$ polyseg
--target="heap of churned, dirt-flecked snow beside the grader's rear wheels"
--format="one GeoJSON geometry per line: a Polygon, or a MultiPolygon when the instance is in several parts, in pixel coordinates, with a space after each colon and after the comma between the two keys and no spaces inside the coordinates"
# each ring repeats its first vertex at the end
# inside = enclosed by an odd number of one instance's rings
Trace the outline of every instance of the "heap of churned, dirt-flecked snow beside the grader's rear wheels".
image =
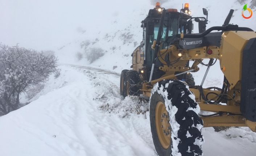
{"type": "Polygon", "coordinates": [[[83,71],[90,80],[93,81],[97,97],[94,100],[99,101],[97,106],[99,110],[105,113],[118,114],[124,118],[131,114],[145,114],[148,111],[149,104],[143,98],[137,96],[120,96],[119,88],[111,81],[102,80],[100,73],[83,71]]]}

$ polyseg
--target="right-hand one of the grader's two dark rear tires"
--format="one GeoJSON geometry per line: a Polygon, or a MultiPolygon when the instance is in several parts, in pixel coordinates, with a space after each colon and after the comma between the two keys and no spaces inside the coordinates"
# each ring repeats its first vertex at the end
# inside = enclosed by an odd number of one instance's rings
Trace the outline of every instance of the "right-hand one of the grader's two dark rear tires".
{"type": "Polygon", "coordinates": [[[127,97],[128,95],[140,96],[140,75],[137,71],[127,71],[124,84],[124,97],[127,97]]]}

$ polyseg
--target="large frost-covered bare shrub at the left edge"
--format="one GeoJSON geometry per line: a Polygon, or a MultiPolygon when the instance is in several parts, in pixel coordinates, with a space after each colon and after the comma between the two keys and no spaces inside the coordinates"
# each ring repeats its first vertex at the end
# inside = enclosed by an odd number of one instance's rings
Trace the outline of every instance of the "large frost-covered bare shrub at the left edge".
{"type": "Polygon", "coordinates": [[[20,93],[44,83],[58,71],[55,55],[0,45],[0,113],[20,108],[20,93]]]}

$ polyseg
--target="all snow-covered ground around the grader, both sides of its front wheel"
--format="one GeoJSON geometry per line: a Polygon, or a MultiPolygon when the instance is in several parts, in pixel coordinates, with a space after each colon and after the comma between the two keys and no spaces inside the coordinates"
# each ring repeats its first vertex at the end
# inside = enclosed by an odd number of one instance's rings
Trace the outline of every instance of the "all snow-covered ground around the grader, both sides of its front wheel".
{"type": "MultiPolygon", "coordinates": [[[[120,97],[117,73],[60,68],[61,75],[52,76],[35,101],[0,117],[1,155],[156,156],[148,104],[120,97]]],[[[249,128],[202,132],[205,156],[256,155],[256,133],[249,128]]]]}

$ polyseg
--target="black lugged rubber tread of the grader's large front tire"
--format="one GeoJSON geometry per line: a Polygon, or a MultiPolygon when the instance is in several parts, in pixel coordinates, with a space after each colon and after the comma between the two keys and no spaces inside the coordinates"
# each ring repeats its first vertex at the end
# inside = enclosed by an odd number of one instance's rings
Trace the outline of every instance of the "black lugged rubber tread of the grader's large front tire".
{"type": "MultiPolygon", "coordinates": [[[[196,142],[196,140],[202,143],[204,142],[203,135],[201,134],[201,129],[198,129],[200,125],[201,127],[203,126],[203,121],[194,110],[189,109],[195,109],[198,106],[198,104],[190,97],[190,95],[193,93],[190,92],[186,85],[179,80],[160,81],[158,84],[158,90],[160,89],[162,89],[163,92],[167,90],[168,100],[171,101],[173,106],[176,106],[178,108],[175,114],[176,122],[180,125],[177,133],[177,136],[180,139],[180,142],[178,144],[178,152],[181,153],[182,156],[201,156],[203,153],[202,147],[194,143],[196,142]],[[165,88],[165,86],[167,86],[167,83],[168,87],[165,88]],[[188,133],[190,134],[190,136],[187,136],[188,133]]],[[[156,93],[159,94],[161,92],[158,93],[155,90],[151,93],[151,97],[153,97],[153,95],[156,93]]],[[[161,94],[160,96],[164,97],[164,95],[161,94]]],[[[155,142],[156,141],[154,141],[154,144],[155,142]]],[[[166,154],[166,152],[159,152],[159,149],[157,153],[159,156],[168,155],[166,154]]],[[[169,155],[171,155],[171,153],[169,153],[169,155]]]]}

